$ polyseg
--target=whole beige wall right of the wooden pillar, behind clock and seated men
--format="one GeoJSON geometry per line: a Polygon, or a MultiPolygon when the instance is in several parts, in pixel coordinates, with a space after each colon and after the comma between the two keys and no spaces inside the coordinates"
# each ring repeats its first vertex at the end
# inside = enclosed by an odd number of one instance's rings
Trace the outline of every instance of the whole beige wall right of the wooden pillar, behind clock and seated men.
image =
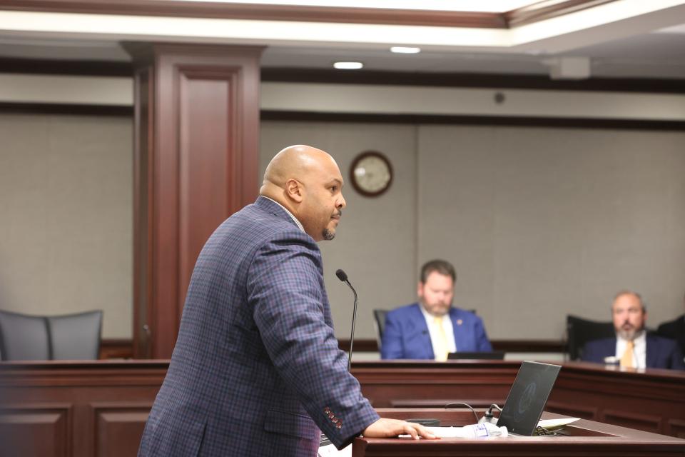
{"type": "Polygon", "coordinates": [[[262,124],[265,166],[288,144],[334,154],[347,176],[377,149],[397,169],[387,194],[345,189],[338,236],[322,243],[338,336],[350,328],[344,268],[371,309],[415,299],[430,258],[455,263],[455,302],[492,338],[562,338],[567,313],[609,319],[621,288],[640,291],[656,325],[682,313],[685,134],[499,126],[262,124]]]}

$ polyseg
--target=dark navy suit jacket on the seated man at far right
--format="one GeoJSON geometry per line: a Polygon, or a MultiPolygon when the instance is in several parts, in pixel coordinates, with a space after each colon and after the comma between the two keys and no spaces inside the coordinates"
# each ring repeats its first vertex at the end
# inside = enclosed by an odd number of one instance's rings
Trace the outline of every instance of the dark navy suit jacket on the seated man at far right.
{"type": "MultiPolygon", "coordinates": [[[[683,354],[675,341],[648,334],[646,349],[647,368],[685,370],[683,354]]],[[[581,360],[604,363],[604,357],[614,355],[616,355],[616,338],[602,338],[585,343],[581,360]]]]}

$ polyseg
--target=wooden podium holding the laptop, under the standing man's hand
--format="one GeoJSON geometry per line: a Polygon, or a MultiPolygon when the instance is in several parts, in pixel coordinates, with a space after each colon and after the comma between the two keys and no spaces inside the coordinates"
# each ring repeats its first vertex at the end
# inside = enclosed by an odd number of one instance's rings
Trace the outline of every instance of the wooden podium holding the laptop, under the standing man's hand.
{"type": "MultiPolygon", "coordinates": [[[[479,416],[484,410],[477,410],[479,416]]],[[[437,418],[441,426],[473,423],[467,409],[377,409],[381,417],[395,419],[437,418]]],[[[566,417],[543,413],[542,418],[566,417]]],[[[507,438],[357,438],[352,457],[666,457],[685,456],[685,440],[631,428],[580,419],[564,426],[559,436],[509,436],[507,438]]]]}

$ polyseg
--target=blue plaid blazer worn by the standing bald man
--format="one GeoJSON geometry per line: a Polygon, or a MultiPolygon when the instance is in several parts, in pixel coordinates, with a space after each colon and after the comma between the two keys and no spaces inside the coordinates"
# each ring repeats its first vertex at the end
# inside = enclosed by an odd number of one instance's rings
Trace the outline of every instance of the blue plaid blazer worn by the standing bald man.
{"type": "Polygon", "coordinates": [[[202,249],[138,456],[316,456],[377,414],[347,372],[321,254],[273,201],[230,216],[202,249]]]}

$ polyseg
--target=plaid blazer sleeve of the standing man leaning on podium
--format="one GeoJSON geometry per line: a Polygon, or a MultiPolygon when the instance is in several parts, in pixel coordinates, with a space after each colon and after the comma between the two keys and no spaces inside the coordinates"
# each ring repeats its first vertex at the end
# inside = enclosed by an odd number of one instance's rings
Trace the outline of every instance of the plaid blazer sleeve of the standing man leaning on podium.
{"type": "Polygon", "coordinates": [[[303,233],[265,243],[248,274],[252,306],[266,351],[288,387],[330,441],[342,448],[379,416],[347,372],[323,290],[320,251],[303,233]]]}

